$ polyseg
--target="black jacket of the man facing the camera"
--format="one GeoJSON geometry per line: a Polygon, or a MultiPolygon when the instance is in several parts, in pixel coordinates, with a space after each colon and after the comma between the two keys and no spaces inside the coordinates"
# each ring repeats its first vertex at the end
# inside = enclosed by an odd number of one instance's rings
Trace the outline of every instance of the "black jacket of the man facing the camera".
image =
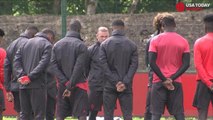
{"type": "Polygon", "coordinates": [[[90,89],[103,91],[104,85],[104,72],[100,63],[100,43],[96,42],[88,48],[90,58],[90,71],[88,82],[90,89]]]}

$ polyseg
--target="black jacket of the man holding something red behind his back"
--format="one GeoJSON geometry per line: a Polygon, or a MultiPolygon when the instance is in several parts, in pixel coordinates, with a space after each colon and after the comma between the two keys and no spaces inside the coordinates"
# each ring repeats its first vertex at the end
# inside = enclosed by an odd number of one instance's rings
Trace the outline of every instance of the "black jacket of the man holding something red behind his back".
{"type": "Polygon", "coordinates": [[[14,59],[17,78],[27,75],[31,83],[24,88],[41,88],[45,85],[45,70],[50,62],[52,44],[43,33],[37,33],[19,48],[14,59]]]}

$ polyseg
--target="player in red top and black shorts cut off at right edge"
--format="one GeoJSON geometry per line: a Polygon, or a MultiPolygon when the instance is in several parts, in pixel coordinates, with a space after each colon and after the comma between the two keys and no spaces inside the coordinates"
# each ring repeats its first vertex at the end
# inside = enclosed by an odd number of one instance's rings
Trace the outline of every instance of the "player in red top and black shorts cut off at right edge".
{"type": "Polygon", "coordinates": [[[197,70],[197,90],[193,106],[198,110],[198,119],[206,120],[209,103],[213,104],[213,14],[203,19],[206,35],[194,44],[194,64],[197,70]]]}

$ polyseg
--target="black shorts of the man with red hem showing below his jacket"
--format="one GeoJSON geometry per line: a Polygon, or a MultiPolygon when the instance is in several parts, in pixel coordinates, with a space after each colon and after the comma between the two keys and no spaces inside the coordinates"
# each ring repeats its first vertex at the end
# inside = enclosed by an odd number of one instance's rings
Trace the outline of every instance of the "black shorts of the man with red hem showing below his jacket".
{"type": "Polygon", "coordinates": [[[68,116],[79,117],[88,115],[88,95],[85,90],[74,88],[70,97],[63,98],[64,85],[59,85],[56,114],[64,119],[68,116]]]}

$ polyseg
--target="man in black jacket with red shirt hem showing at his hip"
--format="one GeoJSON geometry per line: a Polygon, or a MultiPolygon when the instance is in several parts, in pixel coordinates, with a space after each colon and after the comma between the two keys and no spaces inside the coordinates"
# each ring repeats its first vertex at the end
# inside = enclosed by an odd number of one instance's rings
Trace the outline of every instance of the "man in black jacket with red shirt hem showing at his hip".
{"type": "Polygon", "coordinates": [[[53,47],[51,69],[59,81],[57,97],[57,120],[67,116],[86,120],[88,96],[86,86],[86,63],[88,51],[80,36],[81,23],[71,21],[66,36],[53,47]]]}

